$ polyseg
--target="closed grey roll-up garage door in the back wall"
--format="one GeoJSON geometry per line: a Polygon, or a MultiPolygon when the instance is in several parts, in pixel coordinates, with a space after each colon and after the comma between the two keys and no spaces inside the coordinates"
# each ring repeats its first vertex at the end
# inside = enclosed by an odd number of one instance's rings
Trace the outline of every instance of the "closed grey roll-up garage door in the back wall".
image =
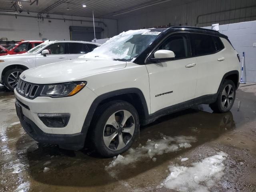
{"type": "MultiPolygon", "coordinates": [[[[92,41],[94,39],[94,30],[93,27],[82,27],[82,26],[70,26],[70,40],[76,41],[92,41]]],[[[101,38],[102,28],[95,28],[96,39],[101,38]]]]}

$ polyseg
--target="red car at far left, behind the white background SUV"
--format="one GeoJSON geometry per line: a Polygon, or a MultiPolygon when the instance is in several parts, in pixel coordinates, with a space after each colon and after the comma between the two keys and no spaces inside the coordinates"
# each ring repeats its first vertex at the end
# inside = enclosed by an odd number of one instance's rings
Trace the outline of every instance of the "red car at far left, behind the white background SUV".
{"type": "MultiPolygon", "coordinates": [[[[28,50],[40,45],[43,41],[22,41],[15,43],[4,50],[0,50],[0,56],[26,53],[28,50]]],[[[1,46],[2,47],[2,46],[1,46]]],[[[2,47],[4,48],[4,47],[2,47]]]]}

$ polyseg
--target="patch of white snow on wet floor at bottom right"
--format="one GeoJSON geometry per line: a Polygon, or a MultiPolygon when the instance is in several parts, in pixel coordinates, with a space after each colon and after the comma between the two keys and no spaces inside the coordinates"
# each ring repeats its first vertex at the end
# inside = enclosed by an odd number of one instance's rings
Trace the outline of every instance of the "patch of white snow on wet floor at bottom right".
{"type": "Polygon", "coordinates": [[[226,153],[220,152],[202,162],[193,163],[192,167],[170,166],[171,173],[161,186],[181,192],[208,192],[208,188],[224,175],[223,161],[226,156],[226,153]]]}

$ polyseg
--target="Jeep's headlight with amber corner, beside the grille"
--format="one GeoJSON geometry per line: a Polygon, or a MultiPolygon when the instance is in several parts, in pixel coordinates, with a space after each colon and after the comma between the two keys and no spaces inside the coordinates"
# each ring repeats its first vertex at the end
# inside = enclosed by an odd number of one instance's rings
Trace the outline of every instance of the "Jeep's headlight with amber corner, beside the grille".
{"type": "Polygon", "coordinates": [[[40,96],[68,97],[77,94],[86,86],[87,82],[72,82],[45,85],[40,96]]]}

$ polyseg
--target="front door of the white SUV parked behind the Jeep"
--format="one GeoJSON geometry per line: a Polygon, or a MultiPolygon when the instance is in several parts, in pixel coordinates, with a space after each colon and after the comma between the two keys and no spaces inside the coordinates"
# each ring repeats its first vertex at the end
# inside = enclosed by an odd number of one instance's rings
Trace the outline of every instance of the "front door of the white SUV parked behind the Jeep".
{"type": "Polygon", "coordinates": [[[36,55],[36,66],[45,65],[67,60],[68,43],[54,43],[50,44],[45,49],[49,50],[49,54],[44,56],[40,53],[36,55]]]}

